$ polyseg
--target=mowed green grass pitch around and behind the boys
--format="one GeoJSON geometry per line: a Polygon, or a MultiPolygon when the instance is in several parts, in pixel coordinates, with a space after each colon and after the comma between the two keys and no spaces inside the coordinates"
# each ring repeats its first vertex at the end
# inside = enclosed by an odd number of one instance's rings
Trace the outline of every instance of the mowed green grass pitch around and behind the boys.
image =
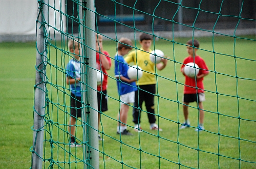
{"type": "MultiPolygon", "coordinates": [[[[189,105],[191,127],[179,130],[179,123],[184,120],[184,76],[180,67],[187,57],[184,45],[187,40],[155,42],[155,48],[169,57],[167,67],[156,71],[155,110],[157,123],[163,129],[161,132],[149,129],[145,112],[141,115],[143,132],[134,132],[131,107],[127,125],[134,135],[120,137],[116,134],[120,105],[112,59],[112,68],[108,71],[109,110],[102,114],[99,129],[104,133],[104,141],[99,142],[100,168],[256,168],[256,42],[199,38],[198,54],[205,60],[210,73],[204,79],[205,131],[198,133],[194,131],[198,125],[196,103],[189,105]]],[[[104,41],[103,46],[113,58],[115,42],[104,41]]],[[[70,149],[67,145],[69,96],[63,91],[69,91],[62,71],[70,58],[59,50],[66,46],[57,43],[57,47],[49,48],[47,65],[50,102],[45,118],[48,123],[43,168],[51,164],[54,168],[57,165],[83,168],[82,149],[70,149]],[[50,138],[53,146],[50,146],[50,138]]],[[[33,142],[35,43],[0,43],[0,51],[0,163],[3,168],[29,168],[33,142]]],[[[77,137],[82,141],[82,127],[77,127],[77,137]]]]}

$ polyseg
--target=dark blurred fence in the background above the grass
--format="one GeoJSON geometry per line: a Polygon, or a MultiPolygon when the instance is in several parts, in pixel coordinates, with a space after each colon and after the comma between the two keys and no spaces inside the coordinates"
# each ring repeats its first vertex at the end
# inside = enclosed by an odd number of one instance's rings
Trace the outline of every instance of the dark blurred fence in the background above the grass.
{"type": "MultiPolygon", "coordinates": [[[[146,32],[152,32],[153,27],[154,31],[186,31],[193,25],[196,29],[203,30],[255,27],[256,2],[254,0],[183,0],[179,9],[182,12],[178,13],[179,2],[119,0],[114,3],[111,0],[95,0],[96,29],[101,33],[113,33],[115,30],[117,32],[133,32],[133,27],[146,32]],[[120,5],[119,2],[123,5],[120,5]],[[179,20],[179,15],[182,20],[179,20]],[[113,20],[118,22],[115,23],[113,20]]],[[[67,19],[68,32],[77,33],[77,8],[71,0],[67,1],[67,13],[73,16],[72,19],[67,19]]]]}

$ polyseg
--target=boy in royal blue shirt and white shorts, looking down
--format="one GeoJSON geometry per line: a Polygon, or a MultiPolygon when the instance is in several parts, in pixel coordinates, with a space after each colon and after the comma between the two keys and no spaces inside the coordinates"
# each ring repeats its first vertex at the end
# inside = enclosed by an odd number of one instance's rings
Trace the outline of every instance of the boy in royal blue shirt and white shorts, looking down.
{"type": "Polygon", "coordinates": [[[133,135],[127,130],[127,114],[129,104],[134,103],[136,87],[136,79],[130,79],[127,75],[129,66],[124,61],[123,56],[132,50],[133,42],[127,38],[121,38],[117,45],[117,55],[115,56],[115,77],[117,78],[117,89],[121,100],[121,107],[117,115],[117,120],[121,123],[117,124],[117,134],[133,135]],[[119,79],[121,81],[119,81],[119,79]]]}

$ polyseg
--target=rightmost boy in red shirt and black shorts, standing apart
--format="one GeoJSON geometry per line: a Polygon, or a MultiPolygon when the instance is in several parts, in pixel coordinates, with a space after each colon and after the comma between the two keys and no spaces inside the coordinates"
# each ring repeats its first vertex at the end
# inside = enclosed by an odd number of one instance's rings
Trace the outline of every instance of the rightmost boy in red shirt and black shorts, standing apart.
{"type": "Polygon", "coordinates": [[[204,76],[208,75],[208,67],[205,64],[204,60],[196,54],[199,48],[199,41],[196,39],[190,39],[186,43],[187,52],[189,56],[184,59],[183,65],[181,66],[181,72],[185,76],[185,86],[184,86],[184,96],[183,96],[183,114],[185,118],[185,122],[182,124],[180,129],[184,129],[190,127],[190,123],[188,120],[188,104],[190,102],[196,101],[198,103],[199,110],[199,125],[196,128],[196,131],[201,131],[204,129],[203,121],[204,121],[204,107],[203,101],[205,101],[204,95],[204,85],[203,79],[204,76]],[[198,65],[199,73],[195,77],[188,77],[184,73],[184,67],[187,63],[192,62],[198,65]]]}

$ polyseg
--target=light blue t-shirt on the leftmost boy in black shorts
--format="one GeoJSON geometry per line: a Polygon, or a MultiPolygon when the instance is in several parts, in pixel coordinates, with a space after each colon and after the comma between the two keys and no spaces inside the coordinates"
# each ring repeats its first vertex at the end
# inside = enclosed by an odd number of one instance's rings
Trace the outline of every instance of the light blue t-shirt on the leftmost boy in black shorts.
{"type": "MultiPolygon", "coordinates": [[[[66,71],[67,71],[67,77],[70,76],[72,78],[78,78],[81,76],[80,73],[80,62],[71,59],[67,65],[66,71]]],[[[81,83],[76,81],[76,83],[70,85],[70,91],[74,95],[81,97],[81,83]]]]}

